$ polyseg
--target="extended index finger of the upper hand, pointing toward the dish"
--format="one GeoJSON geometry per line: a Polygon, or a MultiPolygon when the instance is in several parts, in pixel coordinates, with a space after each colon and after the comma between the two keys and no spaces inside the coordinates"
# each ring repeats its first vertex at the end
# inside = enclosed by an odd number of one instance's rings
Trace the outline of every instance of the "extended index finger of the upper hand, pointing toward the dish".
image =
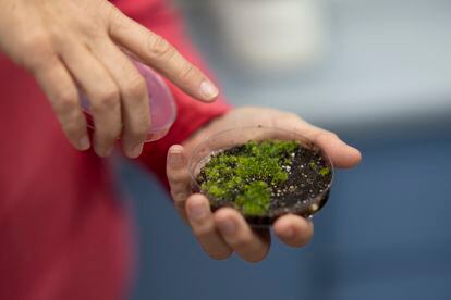
{"type": "Polygon", "coordinates": [[[196,99],[212,101],[219,93],[218,88],[190,63],[164,38],[149,32],[122,13],[110,17],[111,38],[143,63],[157,70],[179,88],[196,99]]]}

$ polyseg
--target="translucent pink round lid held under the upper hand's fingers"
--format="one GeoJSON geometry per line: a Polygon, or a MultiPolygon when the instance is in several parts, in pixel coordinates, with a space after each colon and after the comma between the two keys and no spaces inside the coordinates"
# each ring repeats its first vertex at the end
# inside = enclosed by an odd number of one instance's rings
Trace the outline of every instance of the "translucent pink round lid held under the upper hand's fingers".
{"type": "MultiPolygon", "coordinates": [[[[175,121],[176,108],[174,98],[160,75],[141,62],[132,61],[147,83],[151,124],[146,142],[155,141],[166,136],[175,121]]],[[[88,127],[95,129],[94,120],[89,112],[89,101],[83,93],[81,104],[85,112],[88,127]]]]}

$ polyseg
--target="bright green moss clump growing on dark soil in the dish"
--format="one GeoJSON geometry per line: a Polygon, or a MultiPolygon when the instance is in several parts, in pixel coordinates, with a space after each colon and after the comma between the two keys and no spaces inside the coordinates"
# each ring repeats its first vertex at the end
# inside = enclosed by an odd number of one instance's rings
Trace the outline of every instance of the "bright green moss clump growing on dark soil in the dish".
{"type": "Polygon", "coordinates": [[[271,187],[289,177],[295,141],[249,141],[214,155],[200,174],[202,190],[215,200],[233,201],[246,215],[265,215],[271,187]]]}

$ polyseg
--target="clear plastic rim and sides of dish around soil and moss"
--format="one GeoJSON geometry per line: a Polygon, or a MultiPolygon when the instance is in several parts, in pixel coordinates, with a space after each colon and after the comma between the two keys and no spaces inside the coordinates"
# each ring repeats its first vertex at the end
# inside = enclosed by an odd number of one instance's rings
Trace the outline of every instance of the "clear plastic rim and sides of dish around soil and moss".
{"type": "Polygon", "coordinates": [[[325,188],[322,192],[316,193],[314,197],[307,200],[298,201],[293,205],[270,210],[270,212],[267,215],[245,215],[241,212],[249,225],[252,225],[253,227],[266,227],[271,225],[279,216],[288,213],[297,214],[303,217],[310,217],[325,205],[329,198],[329,192],[333,180],[333,166],[325,151],[322,151],[322,149],[319,146],[315,145],[314,142],[303,137],[302,135],[298,135],[297,133],[275,127],[255,126],[229,129],[212,135],[211,137],[205,139],[192,152],[193,154],[190,158],[188,168],[192,179],[193,191],[204,193],[209,199],[212,211],[216,211],[221,207],[233,207],[233,204],[230,202],[217,201],[214,197],[204,191],[199,183],[197,182],[197,176],[214,154],[233,148],[235,146],[241,146],[251,140],[295,140],[303,148],[318,151],[320,153],[327,166],[330,168],[331,178],[328,183],[327,188],[325,188]]]}

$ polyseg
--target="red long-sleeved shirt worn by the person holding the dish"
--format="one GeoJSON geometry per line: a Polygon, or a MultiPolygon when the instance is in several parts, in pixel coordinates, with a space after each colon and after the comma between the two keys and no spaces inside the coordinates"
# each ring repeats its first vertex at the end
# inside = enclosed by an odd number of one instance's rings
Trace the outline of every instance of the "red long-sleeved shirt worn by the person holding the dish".
{"type": "MultiPolygon", "coordinates": [[[[114,3],[202,66],[166,1],[114,3]]],[[[178,120],[139,159],[163,180],[169,146],[228,110],[170,87],[178,120]]],[[[1,54],[0,137],[0,299],[123,299],[133,238],[108,160],[74,150],[33,77],[1,54]]]]}

